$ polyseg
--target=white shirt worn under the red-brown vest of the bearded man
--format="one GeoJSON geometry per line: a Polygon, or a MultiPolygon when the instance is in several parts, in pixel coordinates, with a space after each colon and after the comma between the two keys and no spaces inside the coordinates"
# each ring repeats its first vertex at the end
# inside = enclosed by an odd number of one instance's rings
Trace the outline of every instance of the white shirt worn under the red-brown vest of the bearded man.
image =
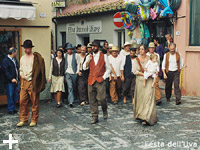
{"type": "MultiPolygon", "coordinates": [[[[97,65],[98,61],[99,61],[99,57],[100,57],[100,51],[98,51],[96,54],[93,53],[93,59],[94,59],[94,63],[95,63],[95,66],[97,65]]],[[[83,70],[87,70],[88,68],[86,67],[86,64],[88,62],[90,58],[90,55],[88,55],[86,57],[86,61],[84,62],[83,64],[83,70]]],[[[104,54],[104,61],[105,61],[105,67],[106,67],[106,72],[104,73],[103,75],[103,79],[105,80],[106,78],[109,77],[109,74],[111,72],[111,67],[110,67],[110,63],[109,63],[109,60],[108,60],[108,56],[106,54],[104,54]]]]}

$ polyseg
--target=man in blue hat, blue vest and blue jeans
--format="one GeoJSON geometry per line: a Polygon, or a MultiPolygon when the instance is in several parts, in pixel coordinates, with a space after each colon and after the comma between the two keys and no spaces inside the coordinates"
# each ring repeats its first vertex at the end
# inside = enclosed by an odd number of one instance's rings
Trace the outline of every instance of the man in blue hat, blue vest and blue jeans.
{"type": "Polygon", "coordinates": [[[69,106],[73,107],[74,93],[76,92],[77,74],[79,72],[79,56],[73,52],[73,46],[69,43],[66,47],[65,54],[65,79],[68,87],[68,102],[69,106]]]}

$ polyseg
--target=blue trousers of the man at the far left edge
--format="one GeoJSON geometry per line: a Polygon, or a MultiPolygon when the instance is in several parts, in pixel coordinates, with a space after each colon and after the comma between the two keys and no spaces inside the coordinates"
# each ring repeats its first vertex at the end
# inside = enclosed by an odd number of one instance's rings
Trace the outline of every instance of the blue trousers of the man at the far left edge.
{"type": "Polygon", "coordinates": [[[6,85],[6,96],[8,111],[14,111],[16,109],[16,102],[19,100],[18,84],[8,83],[6,85]]]}

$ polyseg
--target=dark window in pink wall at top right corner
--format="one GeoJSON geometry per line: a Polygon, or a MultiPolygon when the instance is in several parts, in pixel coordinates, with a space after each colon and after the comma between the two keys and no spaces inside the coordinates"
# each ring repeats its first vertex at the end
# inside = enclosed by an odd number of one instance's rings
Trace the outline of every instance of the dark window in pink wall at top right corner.
{"type": "Polygon", "coordinates": [[[200,46],[200,0],[190,0],[190,46],[200,46]]]}

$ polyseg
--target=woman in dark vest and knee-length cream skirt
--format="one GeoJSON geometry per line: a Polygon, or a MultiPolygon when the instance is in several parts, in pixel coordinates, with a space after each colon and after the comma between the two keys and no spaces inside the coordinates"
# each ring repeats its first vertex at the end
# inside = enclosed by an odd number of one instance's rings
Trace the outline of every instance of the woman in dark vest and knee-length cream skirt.
{"type": "Polygon", "coordinates": [[[48,82],[51,82],[50,92],[54,93],[57,102],[56,107],[61,107],[62,92],[65,92],[64,86],[65,58],[62,49],[56,51],[56,57],[51,61],[48,82]]]}

